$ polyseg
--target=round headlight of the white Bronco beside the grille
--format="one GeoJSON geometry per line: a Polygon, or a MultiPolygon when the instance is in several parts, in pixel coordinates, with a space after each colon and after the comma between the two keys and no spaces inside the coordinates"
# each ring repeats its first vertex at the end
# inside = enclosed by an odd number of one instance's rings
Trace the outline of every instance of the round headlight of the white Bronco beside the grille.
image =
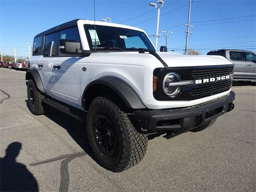
{"type": "Polygon", "coordinates": [[[181,86],[170,86],[169,84],[174,82],[179,82],[180,80],[181,79],[178,73],[176,72],[168,73],[164,77],[164,81],[163,81],[164,93],[169,97],[176,97],[180,92],[181,86]]]}

